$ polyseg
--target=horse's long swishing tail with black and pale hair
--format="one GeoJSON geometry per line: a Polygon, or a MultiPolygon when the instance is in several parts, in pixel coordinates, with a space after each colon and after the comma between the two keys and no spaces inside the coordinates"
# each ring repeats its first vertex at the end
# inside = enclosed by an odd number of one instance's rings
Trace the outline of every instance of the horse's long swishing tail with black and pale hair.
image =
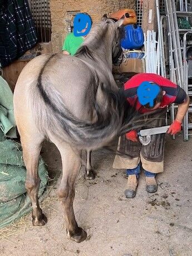
{"type": "MultiPolygon", "coordinates": [[[[50,58],[47,62],[49,60],[50,58]]],[[[81,149],[96,149],[119,134],[124,117],[124,97],[118,90],[107,91],[101,86],[108,102],[104,111],[96,100],[95,89],[92,99],[97,119],[93,124],[82,121],[71,114],[60,93],[46,81],[43,76],[45,66],[46,63],[38,76],[37,86],[33,87],[31,93],[33,117],[43,134],[47,137],[54,134],[61,141],[70,142],[81,149]]]]}

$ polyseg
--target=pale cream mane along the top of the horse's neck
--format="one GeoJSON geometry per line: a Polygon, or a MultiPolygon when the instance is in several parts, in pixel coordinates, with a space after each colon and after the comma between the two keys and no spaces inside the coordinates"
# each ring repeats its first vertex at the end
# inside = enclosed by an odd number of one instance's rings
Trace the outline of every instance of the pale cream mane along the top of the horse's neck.
{"type": "MultiPolygon", "coordinates": [[[[115,28],[115,21],[113,19],[106,19],[96,23],[90,33],[88,33],[82,46],[77,50],[75,56],[84,55],[93,58],[93,53],[97,48],[101,46],[101,42],[104,40],[105,33],[107,31],[106,24],[112,24],[115,28]]],[[[119,40],[125,37],[125,29],[123,26],[119,27],[119,40]]]]}

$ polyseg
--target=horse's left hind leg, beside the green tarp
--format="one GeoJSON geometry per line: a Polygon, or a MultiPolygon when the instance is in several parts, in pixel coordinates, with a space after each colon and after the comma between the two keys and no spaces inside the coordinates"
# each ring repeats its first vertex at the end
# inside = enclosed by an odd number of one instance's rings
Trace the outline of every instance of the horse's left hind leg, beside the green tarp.
{"type": "Polygon", "coordinates": [[[38,176],[38,161],[42,147],[43,137],[39,134],[21,135],[23,149],[23,160],[27,169],[26,189],[32,202],[32,223],[35,226],[42,226],[47,223],[46,216],[42,213],[38,203],[38,190],[40,188],[40,177],[38,176]]]}

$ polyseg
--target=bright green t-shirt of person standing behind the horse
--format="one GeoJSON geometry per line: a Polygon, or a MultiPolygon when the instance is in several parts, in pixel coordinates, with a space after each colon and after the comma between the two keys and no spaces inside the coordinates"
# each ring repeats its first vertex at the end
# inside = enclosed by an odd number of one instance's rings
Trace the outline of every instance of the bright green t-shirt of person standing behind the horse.
{"type": "Polygon", "coordinates": [[[80,48],[84,39],[82,36],[74,36],[73,33],[68,33],[63,42],[62,51],[67,51],[70,55],[75,55],[78,48],[80,48]]]}

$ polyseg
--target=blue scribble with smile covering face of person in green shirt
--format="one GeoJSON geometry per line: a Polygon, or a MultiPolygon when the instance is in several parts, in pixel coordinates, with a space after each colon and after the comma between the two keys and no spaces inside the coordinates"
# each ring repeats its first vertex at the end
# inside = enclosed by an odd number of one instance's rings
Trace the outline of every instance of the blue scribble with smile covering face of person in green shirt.
{"type": "Polygon", "coordinates": [[[91,29],[91,17],[85,13],[76,14],[73,21],[74,36],[87,36],[91,29]]]}

